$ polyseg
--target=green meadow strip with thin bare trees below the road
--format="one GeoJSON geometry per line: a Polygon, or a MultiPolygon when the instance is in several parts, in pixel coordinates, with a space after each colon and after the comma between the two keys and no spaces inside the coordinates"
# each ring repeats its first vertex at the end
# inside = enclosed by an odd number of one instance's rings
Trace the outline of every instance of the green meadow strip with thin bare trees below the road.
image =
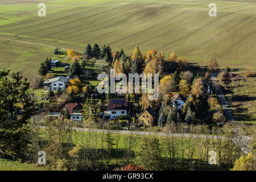
{"type": "MultiPolygon", "coordinates": [[[[229,169],[241,150],[234,146],[231,126],[212,131],[217,135],[212,138],[207,126],[177,125],[174,122],[164,127],[165,137],[157,135],[120,134],[118,122],[94,123],[86,122],[88,131],[73,130],[77,123],[67,120],[44,119],[46,129],[39,127],[42,123],[34,120],[31,124],[34,161],[37,152],[47,153],[47,166],[57,170],[105,170],[121,169],[123,166],[138,166],[138,170],[209,170],[229,169]],[[97,125],[97,126],[96,126],[97,125]],[[186,126],[186,127],[184,127],[186,126]],[[102,130],[93,130],[94,128],[102,130]],[[183,137],[170,134],[183,130],[183,137]],[[203,137],[192,137],[199,132],[203,137]],[[217,165],[209,165],[209,151],[217,153],[217,165]]],[[[81,126],[81,124],[79,124],[81,126]]],[[[129,167],[128,166],[128,167],[129,167]]],[[[127,168],[127,167],[125,167],[127,168]]],[[[135,167],[137,168],[137,167],[135,167]]]]}

